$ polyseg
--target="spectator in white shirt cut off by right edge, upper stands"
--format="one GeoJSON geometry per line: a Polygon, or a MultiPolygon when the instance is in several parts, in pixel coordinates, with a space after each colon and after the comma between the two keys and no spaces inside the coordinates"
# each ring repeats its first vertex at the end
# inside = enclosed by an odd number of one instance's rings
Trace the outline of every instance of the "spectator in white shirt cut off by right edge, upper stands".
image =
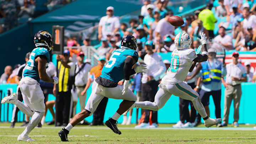
{"type": "Polygon", "coordinates": [[[256,16],[250,15],[249,7],[245,7],[242,11],[242,15],[244,16],[244,20],[242,21],[242,26],[244,28],[244,32],[247,31],[247,28],[251,27],[252,29],[256,27],[256,16]]]}

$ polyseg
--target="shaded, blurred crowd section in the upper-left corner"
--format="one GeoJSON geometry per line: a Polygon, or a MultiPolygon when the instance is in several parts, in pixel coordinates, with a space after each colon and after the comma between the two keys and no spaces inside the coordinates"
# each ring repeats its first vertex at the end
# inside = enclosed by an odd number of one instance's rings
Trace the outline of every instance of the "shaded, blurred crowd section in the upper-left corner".
{"type": "Polygon", "coordinates": [[[0,33],[74,0],[0,0],[0,33]]]}

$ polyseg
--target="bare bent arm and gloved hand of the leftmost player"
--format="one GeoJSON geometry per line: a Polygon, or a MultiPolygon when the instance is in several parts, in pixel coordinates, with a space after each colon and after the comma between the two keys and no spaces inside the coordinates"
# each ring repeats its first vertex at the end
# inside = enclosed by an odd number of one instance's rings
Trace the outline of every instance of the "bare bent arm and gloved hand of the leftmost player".
{"type": "MultiPolygon", "coordinates": [[[[51,82],[51,83],[58,83],[59,80],[57,80],[57,77],[50,78],[47,73],[46,73],[46,63],[47,60],[44,58],[44,56],[40,55],[39,57],[36,58],[36,63],[38,64],[38,73],[39,73],[39,78],[43,80],[44,82],[51,82]]],[[[57,84],[56,83],[56,84],[57,84]]]]}

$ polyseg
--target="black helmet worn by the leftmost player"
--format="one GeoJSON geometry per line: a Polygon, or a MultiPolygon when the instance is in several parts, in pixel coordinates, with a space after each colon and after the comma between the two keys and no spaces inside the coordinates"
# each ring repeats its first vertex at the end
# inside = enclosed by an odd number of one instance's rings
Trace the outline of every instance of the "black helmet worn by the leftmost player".
{"type": "Polygon", "coordinates": [[[34,44],[36,47],[45,47],[50,51],[53,49],[53,37],[47,31],[39,31],[34,35],[34,44]]]}

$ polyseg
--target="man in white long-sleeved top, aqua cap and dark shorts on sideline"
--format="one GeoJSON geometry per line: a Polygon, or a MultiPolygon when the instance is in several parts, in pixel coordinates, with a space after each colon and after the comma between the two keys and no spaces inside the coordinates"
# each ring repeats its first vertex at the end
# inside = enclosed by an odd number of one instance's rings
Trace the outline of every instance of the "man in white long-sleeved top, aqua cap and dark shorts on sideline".
{"type": "MultiPolygon", "coordinates": [[[[162,57],[153,52],[153,41],[146,41],[145,49],[146,55],[144,57],[144,63],[147,65],[146,73],[142,76],[142,101],[151,101],[155,99],[155,94],[158,90],[160,76],[166,71],[165,64],[162,61],[162,57]]],[[[151,110],[145,110],[144,122],[135,128],[155,128],[158,127],[157,111],[152,111],[151,114],[151,126],[149,125],[149,116],[151,110]]]]}

